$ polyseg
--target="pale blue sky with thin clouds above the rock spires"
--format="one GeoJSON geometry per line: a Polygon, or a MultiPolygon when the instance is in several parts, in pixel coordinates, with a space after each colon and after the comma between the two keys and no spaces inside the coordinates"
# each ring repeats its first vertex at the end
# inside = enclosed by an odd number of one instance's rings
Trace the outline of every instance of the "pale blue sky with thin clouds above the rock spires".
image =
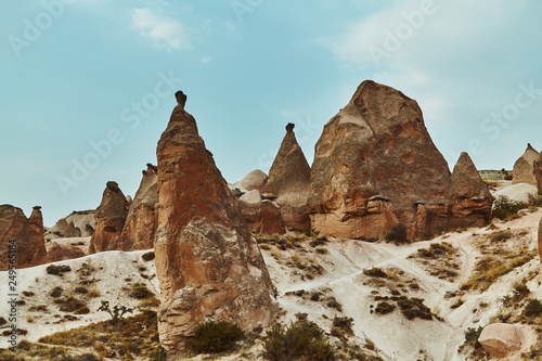
{"type": "Polygon", "coordinates": [[[0,204],[46,225],[133,195],[176,105],[224,178],[268,171],[296,124],[309,160],[364,79],[421,105],[453,168],[542,149],[540,1],[43,0],[0,3],[0,204]]]}

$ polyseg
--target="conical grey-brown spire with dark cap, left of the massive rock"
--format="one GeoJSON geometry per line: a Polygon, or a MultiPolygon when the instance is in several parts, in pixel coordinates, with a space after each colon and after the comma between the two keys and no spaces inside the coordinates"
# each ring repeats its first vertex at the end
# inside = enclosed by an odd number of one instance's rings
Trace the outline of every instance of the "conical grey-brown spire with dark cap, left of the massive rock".
{"type": "Polygon", "coordinates": [[[266,190],[278,195],[282,219],[287,229],[310,230],[307,199],[310,192],[310,166],[294,133],[294,125],[286,126],[279,153],[269,170],[266,190]]]}

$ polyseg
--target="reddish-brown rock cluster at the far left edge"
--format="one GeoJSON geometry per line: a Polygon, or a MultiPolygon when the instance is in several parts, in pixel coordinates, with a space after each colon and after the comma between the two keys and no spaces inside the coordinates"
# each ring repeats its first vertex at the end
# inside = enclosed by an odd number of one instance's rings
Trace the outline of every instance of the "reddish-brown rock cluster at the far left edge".
{"type": "Polygon", "coordinates": [[[16,245],[16,268],[43,265],[47,261],[41,207],[34,207],[27,219],[21,208],[0,205],[0,271],[9,268],[10,241],[16,245]]]}

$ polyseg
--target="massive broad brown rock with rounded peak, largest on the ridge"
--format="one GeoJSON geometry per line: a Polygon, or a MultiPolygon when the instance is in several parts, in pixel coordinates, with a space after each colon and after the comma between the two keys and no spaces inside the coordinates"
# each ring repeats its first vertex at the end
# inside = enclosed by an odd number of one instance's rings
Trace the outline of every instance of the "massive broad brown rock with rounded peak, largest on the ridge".
{"type": "Polygon", "coordinates": [[[450,182],[417,103],[390,87],[363,81],[315,145],[308,201],[312,228],[338,237],[380,237],[396,221],[392,212],[410,237],[422,235],[416,234],[421,230],[430,233],[448,218],[450,182]],[[374,195],[390,199],[379,208],[388,210],[370,212],[374,195]],[[418,224],[421,219],[426,223],[418,224]]]}

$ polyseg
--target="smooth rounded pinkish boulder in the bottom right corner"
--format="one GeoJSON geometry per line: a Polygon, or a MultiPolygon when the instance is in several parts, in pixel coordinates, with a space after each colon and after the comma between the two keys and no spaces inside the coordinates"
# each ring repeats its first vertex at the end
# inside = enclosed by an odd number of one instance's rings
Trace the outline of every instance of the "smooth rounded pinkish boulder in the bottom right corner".
{"type": "Polygon", "coordinates": [[[525,338],[520,327],[507,323],[492,323],[483,327],[478,343],[491,356],[505,358],[521,349],[525,338]]]}

